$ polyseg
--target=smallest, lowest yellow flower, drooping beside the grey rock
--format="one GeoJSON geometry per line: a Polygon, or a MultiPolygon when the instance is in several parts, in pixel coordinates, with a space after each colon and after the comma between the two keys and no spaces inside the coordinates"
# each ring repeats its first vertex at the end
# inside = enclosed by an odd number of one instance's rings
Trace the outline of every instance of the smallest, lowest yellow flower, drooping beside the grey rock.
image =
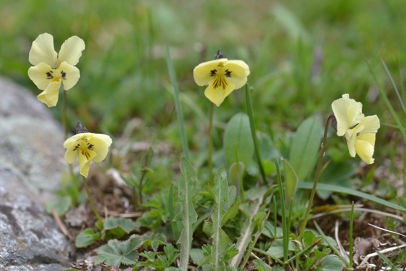
{"type": "Polygon", "coordinates": [[[78,133],[63,143],[67,149],[64,158],[72,164],[79,156],[80,174],[87,178],[90,162],[102,162],[111,143],[110,136],[101,133],[78,133]]]}

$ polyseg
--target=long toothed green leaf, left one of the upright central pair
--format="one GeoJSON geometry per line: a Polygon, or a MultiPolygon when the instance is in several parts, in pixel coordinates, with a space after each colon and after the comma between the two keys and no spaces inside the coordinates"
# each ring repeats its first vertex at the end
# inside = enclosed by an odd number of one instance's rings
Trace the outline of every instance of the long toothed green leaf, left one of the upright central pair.
{"type": "Polygon", "coordinates": [[[178,191],[179,199],[181,199],[180,211],[175,216],[173,221],[180,220],[183,223],[183,229],[177,243],[180,247],[180,264],[179,267],[184,271],[188,270],[189,253],[192,249],[192,225],[197,221],[197,213],[194,210],[192,199],[200,191],[199,187],[194,187],[197,183],[196,170],[190,162],[183,157],[180,161],[180,170],[182,178],[179,181],[178,191]]]}

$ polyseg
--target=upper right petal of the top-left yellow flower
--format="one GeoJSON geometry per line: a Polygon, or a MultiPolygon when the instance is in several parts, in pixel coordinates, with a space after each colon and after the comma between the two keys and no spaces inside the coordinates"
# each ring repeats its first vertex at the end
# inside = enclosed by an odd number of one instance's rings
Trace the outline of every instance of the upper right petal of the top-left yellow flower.
{"type": "Polygon", "coordinates": [[[60,46],[58,62],[66,61],[69,65],[75,66],[79,62],[84,50],[84,41],[78,36],[70,37],[60,46]]]}

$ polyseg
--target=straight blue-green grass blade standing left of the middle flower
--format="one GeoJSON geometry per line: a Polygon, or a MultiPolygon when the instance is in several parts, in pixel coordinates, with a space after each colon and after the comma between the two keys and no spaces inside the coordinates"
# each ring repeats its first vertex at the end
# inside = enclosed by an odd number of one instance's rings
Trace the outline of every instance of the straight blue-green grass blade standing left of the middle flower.
{"type": "Polygon", "coordinates": [[[189,146],[188,146],[188,138],[186,137],[185,125],[184,125],[184,118],[182,107],[179,99],[179,86],[176,80],[176,73],[175,68],[173,67],[173,62],[171,58],[171,54],[169,53],[169,46],[165,44],[166,50],[166,64],[168,65],[168,72],[169,76],[171,77],[171,82],[173,86],[173,98],[175,99],[175,107],[176,112],[179,120],[179,128],[180,128],[180,135],[182,138],[182,145],[183,145],[183,152],[187,160],[189,160],[189,146]]]}

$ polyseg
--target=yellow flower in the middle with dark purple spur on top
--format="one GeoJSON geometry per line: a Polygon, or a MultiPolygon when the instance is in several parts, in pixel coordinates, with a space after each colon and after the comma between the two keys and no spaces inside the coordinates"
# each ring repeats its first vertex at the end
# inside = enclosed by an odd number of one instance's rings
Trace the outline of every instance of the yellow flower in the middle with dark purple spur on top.
{"type": "Polygon", "coordinates": [[[244,86],[250,69],[242,60],[228,60],[218,51],[215,60],[200,63],[193,69],[194,81],[199,86],[208,85],[204,94],[215,105],[220,106],[233,90],[244,86]]]}

